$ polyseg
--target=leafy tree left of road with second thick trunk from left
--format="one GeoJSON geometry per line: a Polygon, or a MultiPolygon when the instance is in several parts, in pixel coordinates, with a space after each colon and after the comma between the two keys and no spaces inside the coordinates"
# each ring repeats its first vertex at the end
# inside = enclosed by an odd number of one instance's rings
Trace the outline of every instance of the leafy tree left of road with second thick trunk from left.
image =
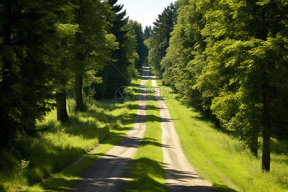
{"type": "Polygon", "coordinates": [[[99,82],[100,78],[92,75],[104,67],[103,57],[110,58],[111,49],[115,50],[117,44],[114,36],[108,34],[110,26],[106,18],[112,12],[107,2],[82,0],[72,3],[78,6],[74,17],[79,26],[75,39],[75,101],[76,110],[83,111],[83,81],[86,78],[86,82],[89,79],[99,82]]]}

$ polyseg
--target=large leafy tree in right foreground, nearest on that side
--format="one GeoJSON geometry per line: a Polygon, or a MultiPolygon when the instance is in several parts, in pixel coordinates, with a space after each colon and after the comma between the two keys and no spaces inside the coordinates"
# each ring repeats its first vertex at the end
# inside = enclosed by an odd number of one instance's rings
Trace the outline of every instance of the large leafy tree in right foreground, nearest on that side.
{"type": "MultiPolygon", "coordinates": [[[[216,70],[226,71],[227,76],[225,83],[218,86],[221,91],[219,97],[215,98],[215,104],[227,105],[222,99],[232,93],[233,98],[240,104],[232,122],[237,126],[241,125],[243,120],[246,122],[242,127],[250,133],[251,146],[255,153],[257,135],[261,131],[263,170],[270,170],[270,139],[277,130],[275,121],[278,118],[273,117],[272,111],[285,111],[279,101],[283,102],[280,95],[287,92],[286,54],[280,51],[285,50],[287,45],[287,27],[283,25],[287,18],[287,8],[282,1],[233,1],[219,4],[217,15],[222,15],[222,19],[219,20],[219,16],[209,13],[212,18],[210,21],[214,22],[207,31],[211,31],[213,26],[221,26],[220,35],[226,37],[220,41],[218,38],[219,42],[210,50],[210,53],[215,53],[211,56],[212,60],[221,58],[225,64],[215,65],[215,62],[212,62],[209,66],[217,66],[216,70]],[[233,87],[234,89],[231,89],[233,87]]],[[[211,34],[215,36],[217,32],[211,34]]],[[[210,72],[211,70],[208,70],[205,73],[210,72]]],[[[217,113],[221,110],[215,107],[214,111],[217,113]]],[[[287,111],[283,114],[280,117],[286,117],[287,111]]]]}

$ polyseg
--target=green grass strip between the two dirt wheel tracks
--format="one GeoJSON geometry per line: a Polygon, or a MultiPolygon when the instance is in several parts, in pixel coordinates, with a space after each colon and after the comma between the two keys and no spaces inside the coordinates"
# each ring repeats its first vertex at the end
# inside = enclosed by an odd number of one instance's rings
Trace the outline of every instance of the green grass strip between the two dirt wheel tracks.
{"type": "MultiPolygon", "coordinates": [[[[151,80],[147,84],[152,87],[151,80]]],[[[163,153],[161,149],[162,129],[157,102],[153,99],[153,89],[149,88],[150,99],[147,105],[147,130],[141,140],[137,152],[129,164],[129,181],[126,191],[167,191],[165,172],[163,170],[163,153]]]]}

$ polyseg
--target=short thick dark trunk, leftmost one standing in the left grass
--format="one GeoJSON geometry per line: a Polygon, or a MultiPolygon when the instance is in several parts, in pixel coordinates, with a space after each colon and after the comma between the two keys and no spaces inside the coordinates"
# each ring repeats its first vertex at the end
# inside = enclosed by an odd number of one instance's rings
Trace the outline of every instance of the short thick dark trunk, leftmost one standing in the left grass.
{"type": "Polygon", "coordinates": [[[57,121],[68,122],[69,117],[66,108],[66,92],[57,92],[55,95],[57,106],[57,121]]]}

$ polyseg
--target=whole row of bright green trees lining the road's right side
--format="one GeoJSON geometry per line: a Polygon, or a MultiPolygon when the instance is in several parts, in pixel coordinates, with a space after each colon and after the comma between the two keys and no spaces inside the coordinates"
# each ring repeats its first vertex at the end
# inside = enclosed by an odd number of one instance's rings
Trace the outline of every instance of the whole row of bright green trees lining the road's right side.
{"type": "Polygon", "coordinates": [[[255,155],[262,135],[262,169],[270,170],[271,137],[288,136],[287,4],[235,0],[176,5],[177,24],[160,66],[164,81],[175,87],[182,102],[239,130],[255,155]]]}

